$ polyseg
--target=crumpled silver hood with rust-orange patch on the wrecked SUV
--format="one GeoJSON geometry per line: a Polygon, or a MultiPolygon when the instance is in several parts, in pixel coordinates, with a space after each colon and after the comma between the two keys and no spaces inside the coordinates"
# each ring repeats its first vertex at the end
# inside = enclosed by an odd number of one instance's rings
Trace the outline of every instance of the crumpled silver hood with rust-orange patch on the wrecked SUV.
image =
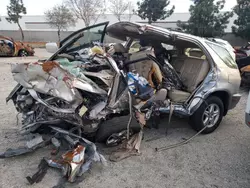
{"type": "Polygon", "coordinates": [[[80,93],[73,87],[74,76],[57,62],[12,64],[14,80],[27,89],[49,94],[68,102],[82,102],[80,93]]]}

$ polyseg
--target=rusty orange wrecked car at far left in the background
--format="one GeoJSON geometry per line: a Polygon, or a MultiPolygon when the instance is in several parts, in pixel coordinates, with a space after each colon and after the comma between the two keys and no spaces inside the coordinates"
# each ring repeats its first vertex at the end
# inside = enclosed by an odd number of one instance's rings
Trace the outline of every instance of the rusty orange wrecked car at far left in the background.
{"type": "Polygon", "coordinates": [[[12,38],[0,35],[0,57],[33,56],[34,53],[34,49],[29,44],[14,41],[12,38]]]}

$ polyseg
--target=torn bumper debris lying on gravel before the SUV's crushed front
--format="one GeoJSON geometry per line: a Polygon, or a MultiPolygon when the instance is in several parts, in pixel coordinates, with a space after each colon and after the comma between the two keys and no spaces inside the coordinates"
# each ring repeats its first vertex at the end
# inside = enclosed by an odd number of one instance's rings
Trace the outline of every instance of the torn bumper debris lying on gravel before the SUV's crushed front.
{"type": "Polygon", "coordinates": [[[48,167],[61,169],[63,176],[69,182],[74,182],[77,177],[82,176],[83,173],[89,170],[93,162],[101,162],[106,165],[106,159],[97,152],[96,145],[93,142],[58,127],[50,126],[50,128],[53,130],[54,135],[49,136],[47,139],[43,139],[41,135],[32,136],[26,146],[8,149],[4,153],[0,153],[0,158],[31,153],[48,144],[56,148],[58,153],[61,152],[60,157],[52,158],[51,156],[51,158],[41,160],[38,171],[33,176],[26,177],[30,184],[40,182],[47,173],[48,167]],[[63,153],[65,149],[68,149],[68,151],[63,153]]]}

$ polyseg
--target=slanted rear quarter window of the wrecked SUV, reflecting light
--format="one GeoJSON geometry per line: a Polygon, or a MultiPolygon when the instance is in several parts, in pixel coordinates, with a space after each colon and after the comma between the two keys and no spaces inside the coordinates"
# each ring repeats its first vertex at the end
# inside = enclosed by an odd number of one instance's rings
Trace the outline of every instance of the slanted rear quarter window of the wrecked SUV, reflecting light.
{"type": "Polygon", "coordinates": [[[227,51],[226,48],[213,44],[213,43],[208,43],[207,44],[213,49],[213,51],[222,59],[222,61],[230,68],[233,69],[238,69],[237,64],[233,60],[232,56],[230,53],[227,51]]]}

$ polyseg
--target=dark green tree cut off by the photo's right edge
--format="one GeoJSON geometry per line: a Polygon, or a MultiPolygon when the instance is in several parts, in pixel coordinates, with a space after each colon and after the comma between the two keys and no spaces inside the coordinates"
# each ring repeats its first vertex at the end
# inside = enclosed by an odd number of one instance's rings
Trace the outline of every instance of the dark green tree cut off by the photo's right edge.
{"type": "Polygon", "coordinates": [[[237,0],[234,13],[238,18],[234,21],[232,31],[236,36],[250,40],[250,0],[237,0]]]}

